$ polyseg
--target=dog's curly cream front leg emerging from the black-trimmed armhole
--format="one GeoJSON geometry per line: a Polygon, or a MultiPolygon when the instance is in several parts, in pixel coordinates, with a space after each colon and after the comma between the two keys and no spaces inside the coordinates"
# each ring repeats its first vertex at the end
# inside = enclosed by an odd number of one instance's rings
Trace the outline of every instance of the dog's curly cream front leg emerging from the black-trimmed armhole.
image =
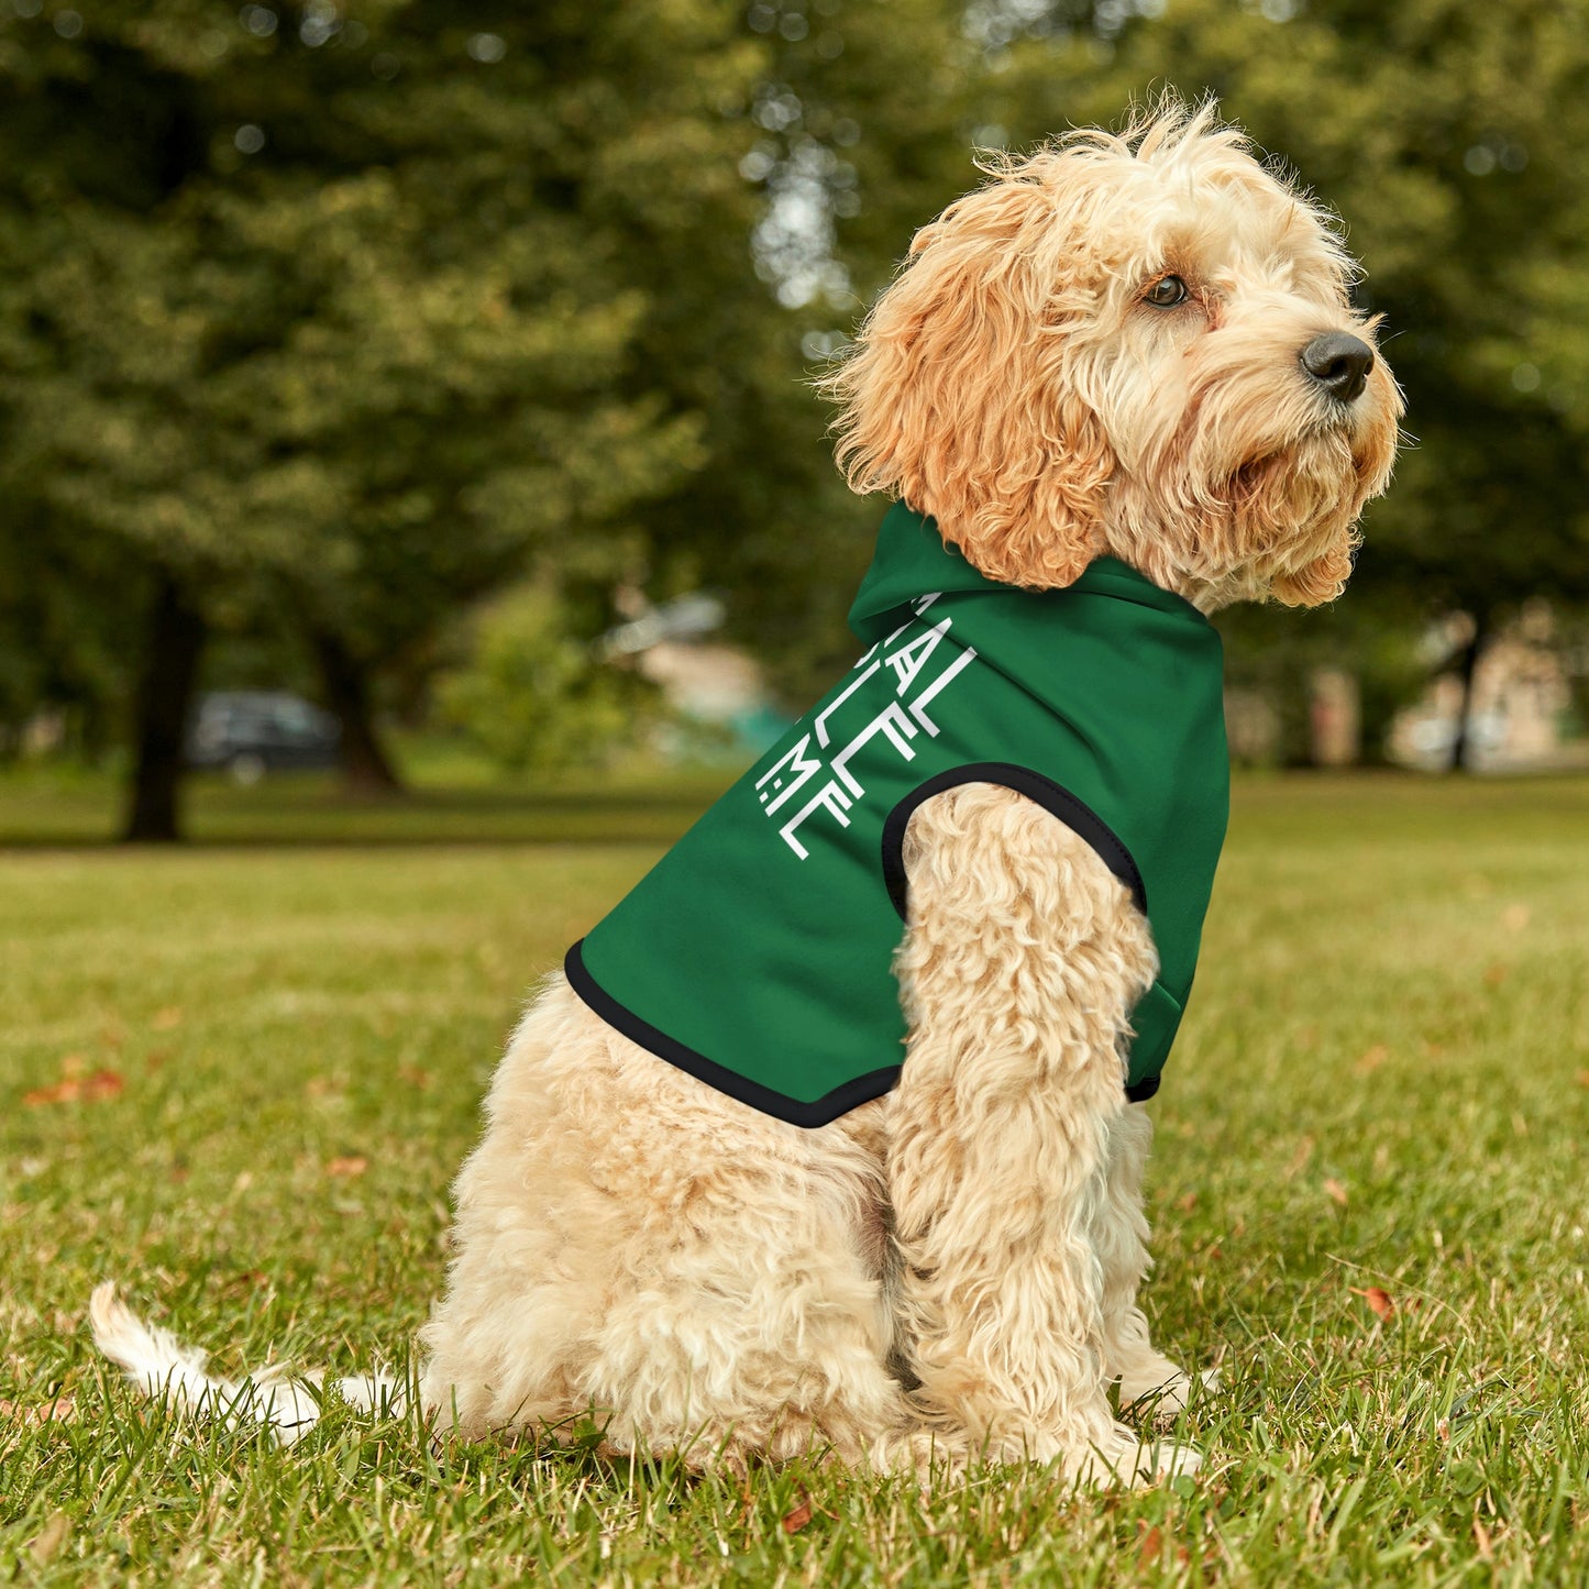
{"type": "Polygon", "coordinates": [[[888,1190],[917,1395],[993,1457],[1189,1471],[1195,1452],[1144,1448],[1111,1413],[1095,1247],[1147,925],[1090,845],[1003,788],[925,802],[906,868],[888,1190]]]}

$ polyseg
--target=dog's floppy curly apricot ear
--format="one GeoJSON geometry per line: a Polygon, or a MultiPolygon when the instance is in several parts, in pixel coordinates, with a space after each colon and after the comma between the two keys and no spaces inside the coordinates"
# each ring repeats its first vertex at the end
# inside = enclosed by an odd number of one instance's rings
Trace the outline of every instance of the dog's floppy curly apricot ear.
{"type": "Polygon", "coordinates": [[[1063,160],[1012,167],[923,227],[823,381],[850,486],[901,496],[990,578],[1030,588],[1073,583],[1104,550],[1114,470],[1068,367],[1063,160]]]}

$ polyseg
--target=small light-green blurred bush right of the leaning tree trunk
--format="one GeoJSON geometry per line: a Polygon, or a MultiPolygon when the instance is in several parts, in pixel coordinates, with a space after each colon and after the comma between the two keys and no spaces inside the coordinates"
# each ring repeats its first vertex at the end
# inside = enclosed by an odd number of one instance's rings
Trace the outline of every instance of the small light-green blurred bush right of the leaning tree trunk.
{"type": "Polygon", "coordinates": [[[469,659],[440,675],[437,704],[507,772],[601,766],[655,717],[655,691],[574,636],[547,583],[507,591],[470,628],[469,659]]]}

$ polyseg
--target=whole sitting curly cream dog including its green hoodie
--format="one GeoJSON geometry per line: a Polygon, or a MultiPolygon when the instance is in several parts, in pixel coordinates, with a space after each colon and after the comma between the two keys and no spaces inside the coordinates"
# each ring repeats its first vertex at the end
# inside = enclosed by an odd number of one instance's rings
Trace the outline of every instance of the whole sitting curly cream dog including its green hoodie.
{"type": "MultiPolygon", "coordinates": [[[[596,1416],[615,1452],[739,1471],[822,1452],[1146,1483],[1198,1463],[1122,1422],[1109,1390],[1174,1413],[1192,1386],[1138,1305],[1150,1123],[1133,1098],[1173,1038],[1224,833],[1206,615],[1340,594],[1401,397],[1338,229],[1212,105],[1166,99],[985,173],[915,237],[826,378],[852,488],[899,502],[896,561],[880,543],[858,604],[872,650],[725,798],[733,834],[709,814],[718,837],[686,839],[512,1038],[423,1332],[439,1429],[596,1416]],[[1020,651],[1007,669],[1001,647],[1020,651]],[[1108,721],[1081,733],[1100,699],[1108,721]],[[1006,712],[1006,760],[942,748],[1006,712]],[[1092,740],[1139,720],[1166,748],[1119,766],[1162,782],[1154,815],[1052,775],[1104,788],[1114,752],[1092,740]],[[1033,747],[1014,771],[1009,744],[1033,747]],[[817,845],[866,823],[891,869],[834,849],[856,891],[825,918],[829,949],[788,925],[804,904],[785,874],[817,876],[817,845]],[[1150,864],[1133,842],[1157,845],[1150,864]],[[790,972],[780,933],[822,969],[790,972]],[[736,945],[761,939],[767,987],[745,992],[736,945]],[[853,1022],[823,1003],[852,980],[853,1022]]],[[[92,1319],[151,1390],[175,1376],[178,1398],[284,1436],[313,1417],[291,1387],[207,1379],[110,1286],[92,1319]]]]}

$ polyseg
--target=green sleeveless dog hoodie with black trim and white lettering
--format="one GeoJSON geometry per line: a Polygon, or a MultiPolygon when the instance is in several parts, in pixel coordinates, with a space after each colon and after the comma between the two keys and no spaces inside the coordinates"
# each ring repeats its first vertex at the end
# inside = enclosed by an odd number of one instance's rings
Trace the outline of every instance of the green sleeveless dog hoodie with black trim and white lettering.
{"type": "Polygon", "coordinates": [[[1127,1096],[1158,1088],[1230,807],[1224,658],[1181,596],[1114,558],[1065,590],[979,574],[933,520],[883,520],[856,664],[567,953],[609,1025],[801,1127],[906,1061],[893,953],[910,814],[998,783],[1085,839],[1152,926],[1127,1096]]]}

